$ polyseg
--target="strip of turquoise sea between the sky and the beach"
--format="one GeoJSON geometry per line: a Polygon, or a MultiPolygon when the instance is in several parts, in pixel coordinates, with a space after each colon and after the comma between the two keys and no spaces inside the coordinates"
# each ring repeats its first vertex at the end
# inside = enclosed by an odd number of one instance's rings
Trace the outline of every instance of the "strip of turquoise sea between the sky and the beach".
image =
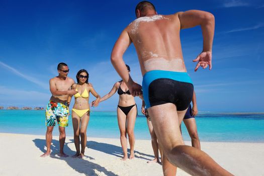
{"type": "MultiPolygon", "coordinates": [[[[196,117],[201,141],[264,142],[264,113],[199,113],[196,117]]],[[[183,127],[184,140],[190,140],[183,127]]],[[[45,111],[0,110],[0,132],[45,135],[45,111]]],[[[58,135],[55,127],[54,135],[58,135]]],[[[73,136],[71,118],[66,135],[73,136]]],[[[140,112],[136,139],[150,139],[146,118],[140,112]]],[[[119,138],[116,112],[91,112],[88,137],[119,138]]]]}

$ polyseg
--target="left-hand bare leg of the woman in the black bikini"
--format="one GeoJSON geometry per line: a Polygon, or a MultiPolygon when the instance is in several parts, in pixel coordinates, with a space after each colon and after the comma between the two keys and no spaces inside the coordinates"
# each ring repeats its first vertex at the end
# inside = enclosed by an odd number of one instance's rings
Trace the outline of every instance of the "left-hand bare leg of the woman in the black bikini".
{"type": "Polygon", "coordinates": [[[117,121],[118,127],[120,130],[120,142],[123,149],[124,156],[122,160],[127,160],[127,131],[126,131],[126,115],[121,111],[120,108],[117,108],[117,121]]]}

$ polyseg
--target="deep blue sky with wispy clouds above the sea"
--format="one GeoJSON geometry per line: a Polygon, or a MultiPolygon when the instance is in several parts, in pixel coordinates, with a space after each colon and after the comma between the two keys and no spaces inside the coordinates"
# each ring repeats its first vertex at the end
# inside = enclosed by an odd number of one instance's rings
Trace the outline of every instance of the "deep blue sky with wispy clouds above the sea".
{"type": "MultiPolygon", "coordinates": [[[[72,78],[79,69],[87,69],[95,90],[107,94],[120,80],[110,62],[112,47],[135,19],[138,2],[0,0],[0,106],[45,107],[50,98],[48,82],[57,75],[59,62],[68,64],[72,78]]],[[[194,72],[192,60],[203,43],[200,27],[181,32],[199,111],[264,112],[263,1],[152,3],[159,14],[197,9],[215,16],[211,71],[194,72]]],[[[132,78],[141,82],[134,46],[124,60],[132,78]]],[[[140,107],[141,101],[136,98],[136,102],[140,107]]],[[[115,111],[117,104],[116,94],[92,110],[115,111]]]]}

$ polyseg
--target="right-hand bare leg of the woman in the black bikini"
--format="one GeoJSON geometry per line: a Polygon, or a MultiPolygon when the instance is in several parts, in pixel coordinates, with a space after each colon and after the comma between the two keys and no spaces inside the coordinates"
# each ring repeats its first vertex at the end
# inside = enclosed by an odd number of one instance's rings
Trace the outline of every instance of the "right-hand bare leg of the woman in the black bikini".
{"type": "Polygon", "coordinates": [[[135,146],[135,134],[134,134],[134,127],[137,117],[137,108],[134,106],[127,115],[127,134],[128,134],[128,141],[130,145],[130,155],[129,159],[133,159],[134,155],[134,146],[135,146]]]}

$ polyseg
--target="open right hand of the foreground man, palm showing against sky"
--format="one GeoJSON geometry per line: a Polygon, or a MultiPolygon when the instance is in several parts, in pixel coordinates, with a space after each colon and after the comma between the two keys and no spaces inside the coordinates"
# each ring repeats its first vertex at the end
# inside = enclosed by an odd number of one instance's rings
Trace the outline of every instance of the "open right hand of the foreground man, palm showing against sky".
{"type": "Polygon", "coordinates": [[[211,51],[205,51],[200,53],[193,62],[197,62],[197,65],[194,69],[194,71],[197,71],[198,68],[201,66],[203,69],[207,68],[209,65],[209,70],[212,69],[212,52],[211,51]]]}

